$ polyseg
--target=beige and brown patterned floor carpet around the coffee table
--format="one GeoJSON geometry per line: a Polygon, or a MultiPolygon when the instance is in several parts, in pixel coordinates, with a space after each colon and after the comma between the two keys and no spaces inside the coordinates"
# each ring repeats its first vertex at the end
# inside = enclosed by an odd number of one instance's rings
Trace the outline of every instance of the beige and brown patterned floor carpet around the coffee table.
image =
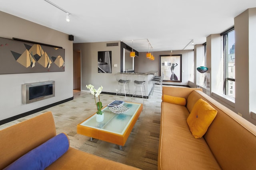
{"type": "MultiPolygon", "coordinates": [[[[102,104],[106,106],[113,100],[125,100],[125,97],[100,94],[100,99],[102,104]]],[[[127,101],[142,103],[142,98],[127,97],[127,101]]],[[[68,135],[70,147],[140,169],[156,170],[160,131],[160,104],[160,93],[154,92],[149,99],[144,99],[143,110],[122,150],[116,144],[98,139],[91,141],[90,137],[76,133],[76,125],[96,112],[94,98],[90,92],[74,91],[74,100],[0,125],[0,129],[30,119],[46,111],[52,111],[56,132],[57,134],[64,132],[68,135]]]]}

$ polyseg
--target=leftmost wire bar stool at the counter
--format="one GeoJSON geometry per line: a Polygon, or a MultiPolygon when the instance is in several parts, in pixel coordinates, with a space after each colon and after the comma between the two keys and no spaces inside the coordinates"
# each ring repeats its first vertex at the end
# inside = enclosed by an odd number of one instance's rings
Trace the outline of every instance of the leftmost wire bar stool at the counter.
{"type": "Polygon", "coordinates": [[[126,74],[115,74],[116,77],[116,81],[118,81],[118,91],[116,92],[116,95],[119,94],[119,96],[122,94],[121,91],[124,92],[124,96],[125,96],[125,100],[126,99],[126,94],[129,92],[129,95],[131,97],[130,94],[130,87],[129,87],[129,83],[130,80],[127,80],[127,75],[126,74]],[[128,86],[128,90],[125,89],[125,85],[128,86]],[[124,88],[124,90],[122,89],[122,87],[124,88]]]}

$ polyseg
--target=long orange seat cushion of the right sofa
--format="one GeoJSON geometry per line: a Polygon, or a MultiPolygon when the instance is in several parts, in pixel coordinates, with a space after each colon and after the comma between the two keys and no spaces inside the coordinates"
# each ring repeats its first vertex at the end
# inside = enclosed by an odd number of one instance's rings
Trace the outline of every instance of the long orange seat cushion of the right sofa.
{"type": "Polygon", "coordinates": [[[158,170],[221,169],[203,138],[195,139],[186,106],[162,102],[158,170]]]}

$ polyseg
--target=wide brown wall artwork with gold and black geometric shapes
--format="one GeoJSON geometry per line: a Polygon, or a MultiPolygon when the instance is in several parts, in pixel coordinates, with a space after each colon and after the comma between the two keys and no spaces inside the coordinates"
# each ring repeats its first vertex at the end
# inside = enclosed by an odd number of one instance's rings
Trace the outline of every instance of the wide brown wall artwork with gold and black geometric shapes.
{"type": "Polygon", "coordinates": [[[0,74],[64,71],[65,49],[0,37],[0,74]]]}

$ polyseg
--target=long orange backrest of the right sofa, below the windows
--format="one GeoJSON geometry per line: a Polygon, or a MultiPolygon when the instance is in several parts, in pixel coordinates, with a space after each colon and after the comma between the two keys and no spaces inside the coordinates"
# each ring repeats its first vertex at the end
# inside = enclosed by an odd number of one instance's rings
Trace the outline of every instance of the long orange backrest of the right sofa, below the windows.
{"type": "Polygon", "coordinates": [[[221,168],[255,169],[256,126],[203,92],[192,92],[190,97],[188,103],[202,98],[218,111],[204,139],[221,168]]]}

